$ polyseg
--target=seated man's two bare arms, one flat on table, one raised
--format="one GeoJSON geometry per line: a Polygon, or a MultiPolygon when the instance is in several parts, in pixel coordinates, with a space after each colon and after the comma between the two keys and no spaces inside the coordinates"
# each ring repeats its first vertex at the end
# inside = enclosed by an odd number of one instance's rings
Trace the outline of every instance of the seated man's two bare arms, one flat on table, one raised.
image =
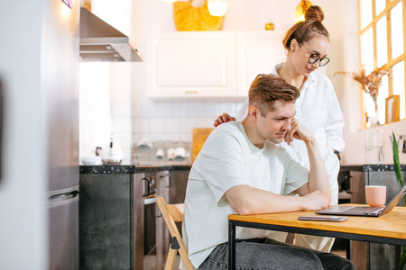
{"type": "Polygon", "coordinates": [[[296,190],[300,196],[279,195],[240,184],[226,192],[226,199],[239,214],[258,214],[285,211],[317,211],[331,203],[328,174],[318,151],[313,134],[296,119],[291,121],[291,130],[286,135],[288,143],[301,139],[309,152],[309,182],[296,190]]]}

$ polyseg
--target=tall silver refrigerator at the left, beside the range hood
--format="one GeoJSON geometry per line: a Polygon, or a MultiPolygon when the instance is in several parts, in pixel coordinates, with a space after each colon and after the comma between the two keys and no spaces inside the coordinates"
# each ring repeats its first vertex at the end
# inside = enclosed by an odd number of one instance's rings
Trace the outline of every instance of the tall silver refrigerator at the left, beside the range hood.
{"type": "Polygon", "coordinates": [[[79,6],[46,1],[41,110],[46,148],[49,269],[78,269],[79,6]]]}

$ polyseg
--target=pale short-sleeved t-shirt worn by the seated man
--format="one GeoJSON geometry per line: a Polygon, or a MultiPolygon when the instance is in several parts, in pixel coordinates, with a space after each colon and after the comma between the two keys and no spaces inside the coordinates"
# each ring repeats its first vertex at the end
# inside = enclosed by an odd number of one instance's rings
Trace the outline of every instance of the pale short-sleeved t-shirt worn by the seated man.
{"type": "MultiPolygon", "coordinates": [[[[289,194],[309,179],[293,149],[267,141],[256,148],[243,124],[232,121],[211,132],[191,167],[185,198],[182,238],[198,268],[218,244],[228,241],[229,214],[236,212],[226,191],[239,184],[289,194]]],[[[273,238],[272,231],[238,228],[236,238],[273,238]]]]}

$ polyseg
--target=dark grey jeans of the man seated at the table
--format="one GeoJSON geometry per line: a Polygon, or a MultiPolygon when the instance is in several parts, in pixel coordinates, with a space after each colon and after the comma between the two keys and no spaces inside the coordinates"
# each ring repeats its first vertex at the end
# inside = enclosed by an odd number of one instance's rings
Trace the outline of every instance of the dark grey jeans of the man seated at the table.
{"type": "MultiPolygon", "coordinates": [[[[237,240],[235,264],[238,270],[355,269],[344,257],[269,238],[237,240]]],[[[228,243],[218,245],[198,267],[198,270],[206,269],[228,269],[228,243]]]]}

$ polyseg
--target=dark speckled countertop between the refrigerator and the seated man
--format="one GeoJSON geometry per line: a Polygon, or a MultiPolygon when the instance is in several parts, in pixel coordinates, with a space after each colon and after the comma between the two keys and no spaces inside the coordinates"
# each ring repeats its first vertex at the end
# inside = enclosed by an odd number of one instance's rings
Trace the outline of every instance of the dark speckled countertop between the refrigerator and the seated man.
{"type": "Polygon", "coordinates": [[[80,174],[138,174],[163,170],[189,170],[191,166],[135,166],[135,165],[86,165],[79,166],[80,174]]]}

